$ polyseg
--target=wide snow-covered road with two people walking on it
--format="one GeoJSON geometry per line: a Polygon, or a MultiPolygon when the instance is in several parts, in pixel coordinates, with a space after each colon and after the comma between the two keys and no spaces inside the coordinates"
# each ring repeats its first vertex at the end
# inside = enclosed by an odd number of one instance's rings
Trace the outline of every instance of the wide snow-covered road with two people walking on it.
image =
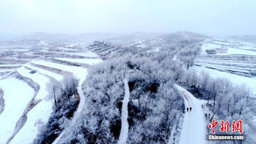
{"type": "Polygon", "coordinates": [[[205,144],[205,122],[202,104],[204,100],[198,100],[190,92],[176,85],[185,101],[185,116],[180,133],[180,144],[205,144]],[[187,108],[192,108],[188,110],[187,108]]]}

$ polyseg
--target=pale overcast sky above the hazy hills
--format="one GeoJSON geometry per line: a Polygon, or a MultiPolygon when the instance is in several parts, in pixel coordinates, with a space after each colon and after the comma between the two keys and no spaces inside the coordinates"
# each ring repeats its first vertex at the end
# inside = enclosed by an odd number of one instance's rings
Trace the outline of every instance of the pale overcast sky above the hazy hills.
{"type": "Polygon", "coordinates": [[[256,35],[256,0],[0,0],[0,32],[256,35]]]}

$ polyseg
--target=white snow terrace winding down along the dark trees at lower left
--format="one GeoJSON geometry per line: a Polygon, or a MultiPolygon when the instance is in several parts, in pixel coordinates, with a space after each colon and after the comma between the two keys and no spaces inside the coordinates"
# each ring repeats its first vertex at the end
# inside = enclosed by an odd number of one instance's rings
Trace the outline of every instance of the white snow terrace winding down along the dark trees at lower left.
{"type": "Polygon", "coordinates": [[[52,113],[52,102],[46,100],[45,97],[48,95],[46,90],[46,84],[49,82],[49,79],[41,74],[34,73],[30,74],[28,69],[19,68],[17,71],[22,75],[31,78],[33,81],[40,85],[40,90],[36,94],[35,99],[43,99],[39,102],[34,108],[28,112],[28,119],[20,131],[14,136],[10,144],[17,143],[32,143],[33,139],[36,138],[38,134],[38,129],[35,126],[35,123],[41,119],[42,122],[47,123],[49,117],[52,113]]]}

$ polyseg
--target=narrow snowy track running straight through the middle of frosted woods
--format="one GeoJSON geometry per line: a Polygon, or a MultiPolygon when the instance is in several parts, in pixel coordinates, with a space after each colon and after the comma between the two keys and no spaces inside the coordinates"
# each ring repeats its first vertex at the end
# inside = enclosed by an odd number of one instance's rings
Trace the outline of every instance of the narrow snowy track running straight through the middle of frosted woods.
{"type": "Polygon", "coordinates": [[[128,102],[130,97],[129,85],[127,79],[124,79],[124,100],[122,104],[122,115],[121,115],[121,132],[119,136],[118,144],[125,144],[128,137],[129,124],[128,118],[128,102]]]}

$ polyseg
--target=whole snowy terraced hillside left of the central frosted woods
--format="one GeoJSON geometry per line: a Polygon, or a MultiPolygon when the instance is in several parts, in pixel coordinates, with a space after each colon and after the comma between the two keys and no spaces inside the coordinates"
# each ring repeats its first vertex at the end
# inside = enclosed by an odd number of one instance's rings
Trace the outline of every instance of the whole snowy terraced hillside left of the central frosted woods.
{"type": "MultiPolygon", "coordinates": [[[[80,79],[77,89],[82,92],[81,84],[86,78],[87,68],[102,61],[97,54],[90,52],[93,49],[89,45],[75,45],[74,48],[46,48],[1,58],[0,105],[3,111],[0,122],[4,126],[1,126],[0,143],[31,143],[36,138],[38,129],[35,123],[39,119],[47,123],[52,113],[54,102],[47,98],[46,88],[50,79],[60,81],[64,75],[73,73],[80,79]],[[18,111],[12,107],[13,103],[18,111]],[[12,110],[16,113],[9,115],[12,110]]],[[[84,104],[81,92],[80,109],[84,104]]]]}

